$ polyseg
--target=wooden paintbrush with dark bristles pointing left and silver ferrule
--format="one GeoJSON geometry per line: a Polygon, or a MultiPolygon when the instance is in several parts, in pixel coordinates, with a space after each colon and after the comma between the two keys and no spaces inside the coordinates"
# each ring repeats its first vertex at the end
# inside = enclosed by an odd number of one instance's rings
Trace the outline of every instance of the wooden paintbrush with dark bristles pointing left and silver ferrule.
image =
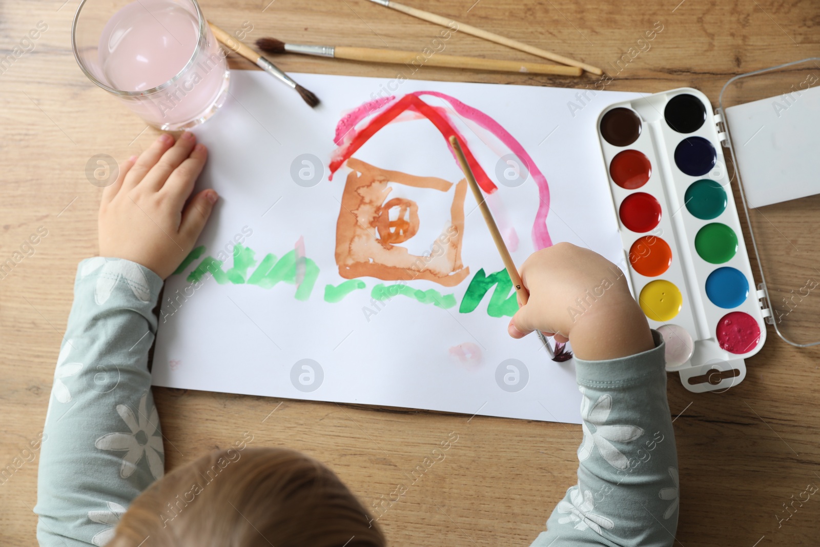
{"type": "Polygon", "coordinates": [[[285,43],[275,38],[260,38],[257,48],[267,53],[299,53],[317,57],[333,57],[349,61],[387,62],[395,64],[413,64],[426,66],[447,66],[449,68],[466,68],[478,71],[517,72],[524,74],[554,74],[580,76],[583,70],[578,66],[545,65],[540,62],[503,61],[499,59],[482,59],[481,57],[461,57],[435,53],[429,57],[417,52],[396,49],[350,48],[348,46],[313,46],[301,43],[285,43]]]}

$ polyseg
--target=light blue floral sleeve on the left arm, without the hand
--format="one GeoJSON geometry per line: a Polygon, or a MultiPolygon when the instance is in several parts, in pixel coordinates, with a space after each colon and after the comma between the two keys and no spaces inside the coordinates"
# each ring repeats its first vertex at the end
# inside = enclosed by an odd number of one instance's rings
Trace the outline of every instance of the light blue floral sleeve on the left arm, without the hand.
{"type": "Polygon", "coordinates": [[[40,545],[105,545],[165,456],[148,349],[162,279],[117,258],[80,262],[37,481],[40,545]]]}

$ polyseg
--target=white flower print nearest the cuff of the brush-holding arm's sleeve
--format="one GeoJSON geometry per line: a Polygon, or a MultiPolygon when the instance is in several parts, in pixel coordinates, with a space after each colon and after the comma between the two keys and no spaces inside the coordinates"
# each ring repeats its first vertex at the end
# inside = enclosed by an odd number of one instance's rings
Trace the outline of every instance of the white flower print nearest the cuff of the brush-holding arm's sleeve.
{"type": "Polygon", "coordinates": [[[626,458],[610,441],[629,443],[643,435],[644,430],[638,426],[604,425],[609,413],[612,412],[613,398],[607,394],[592,403],[586,390],[583,387],[578,389],[584,395],[581,399],[581,418],[584,420],[581,430],[584,432],[584,440],[578,447],[578,461],[583,462],[589,458],[592,450],[598,447],[599,453],[609,465],[616,469],[626,469],[629,467],[629,458],[626,458]],[[587,422],[592,424],[594,431],[590,431],[587,422]]]}

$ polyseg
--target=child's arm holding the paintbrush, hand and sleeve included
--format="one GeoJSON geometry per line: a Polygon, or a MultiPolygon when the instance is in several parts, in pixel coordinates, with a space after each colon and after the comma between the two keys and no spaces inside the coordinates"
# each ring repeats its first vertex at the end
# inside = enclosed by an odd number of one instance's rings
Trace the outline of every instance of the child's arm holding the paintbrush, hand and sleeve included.
{"type": "Polygon", "coordinates": [[[532,547],[672,545],[678,474],[663,341],[617,267],[592,251],[539,251],[522,280],[530,300],[510,335],[538,329],[571,340],[584,395],[578,482],[532,547]]]}

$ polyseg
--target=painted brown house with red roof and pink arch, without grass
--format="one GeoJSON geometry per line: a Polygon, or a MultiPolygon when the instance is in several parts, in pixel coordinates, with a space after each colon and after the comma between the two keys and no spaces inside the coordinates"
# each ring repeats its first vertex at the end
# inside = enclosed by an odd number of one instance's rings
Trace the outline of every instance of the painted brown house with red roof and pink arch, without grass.
{"type": "MultiPolygon", "coordinates": [[[[353,154],[367,140],[373,138],[381,128],[391,122],[399,121],[400,116],[407,116],[408,113],[411,120],[421,118],[435,125],[444,142],[447,142],[451,135],[456,134],[462,143],[467,143],[467,139],[455,129],[450,119],[451,115],[463,116],[476,122],[484,130],[489,130],[510,150],[517,153],[530,167],[529,171],[532,172],[539,186],[540,204],[532,228],[533,243],[536,249],[551,244],[546,226],[549,187],[544,175],[541,175],[535,162],[532,162],[517,140],[512,138],[512,135],[503,130],[490,116],[486,116],[475,108],[468,107],[444,93],[422,91],[410,93],[393,101],[385,102],[383,99],[377,99],[371,103],[365,103],[348,116],[344,116],[336,126],[335,143],[339,145],[339,148],[330,162],[330,177],[332,178],[333,173],[345,161],[352,170],[345,184],[339,209],[339,221],[336,225],[336,262],[339,265],[339,275],[347,279],[361,276],[372,276],[384,280],[425,279],[449,287],[461,283],[469,273],[469,267],[464,267],[461,262],[464,230],[463,206],[467,193],[467,180],[462,179],[453,183],[434,177],[419,177],[397,171],[385,171],[353,157],[353,154]],[[444,99],[449,103],[450,108],[431,107],[420,98],[421,95],[432,95],[444,99]],[[357,125],[362,123],[374,110],[376,114],[371,121],[357,128],[357,125]],[[453,184],[456,185],[450,210],[451,218],[444,226],[439,239],[440,242],[442,239],[446,241],[444,253],[440,253],[440,256],[434,256],[432,253],[427,257],[414,256],[408,253],[406,248],[398,245],[416,235],[420,221],[417,203],[405,198],[389,199],[392,190],[391,182],[437,189],[443,192],[449,190],[453,184]]],[[[449,143],[447,146],[449,147],[449,143]]],[[[452,150],[450,152],[452,153],[452,150]]],[[[481,188],[488,194],[496,191],[498,187],[486,175],[481,164],[476,161],[466,146],[464,153],[481,188]]],[[[476,305],[467,304],[472,309],[476,305]]],[[[517,309],[514,297],[512,305],[517,309]]],[[[490,315],[500,317],[497,313],[491,312],[490,315]]]]}

